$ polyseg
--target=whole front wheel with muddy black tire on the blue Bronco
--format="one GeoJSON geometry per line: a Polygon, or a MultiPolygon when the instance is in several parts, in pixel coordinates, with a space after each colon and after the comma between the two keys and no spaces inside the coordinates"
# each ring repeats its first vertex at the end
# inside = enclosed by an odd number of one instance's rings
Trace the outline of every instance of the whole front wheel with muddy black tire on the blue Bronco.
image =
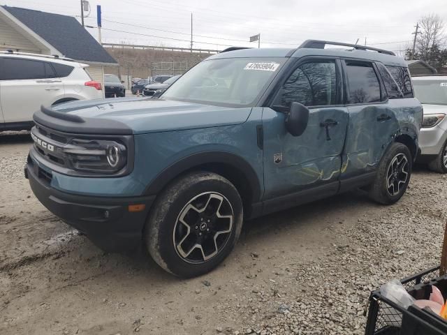
{"type": "Polygon", "coordinates": [[[242,200],[230,181],[211,172],[192,172],[174,180],[157,197],[143,236],[149,254],[160,267],[175,276],[191,278],[206,274],[228,256],[240,236],[242,218],[242,200]],[[208,210],[212,205],[219,207],[214,218],[208,210]],[[222,232],[226,230],[229,232],[222,232]],[[203,249],[191,248],[199,242],[203,249]]]}

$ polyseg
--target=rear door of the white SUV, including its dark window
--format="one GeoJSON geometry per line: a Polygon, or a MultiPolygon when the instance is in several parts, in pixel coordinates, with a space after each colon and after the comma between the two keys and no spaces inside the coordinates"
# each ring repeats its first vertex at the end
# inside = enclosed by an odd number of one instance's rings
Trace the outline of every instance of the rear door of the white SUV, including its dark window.
{"type": "Polygon", "coordinates": [[[64,95],[64,86],[46,61],[2,58],[1,109],[4,121],[32,121],[41,105],[49,106],[64,95]]]}

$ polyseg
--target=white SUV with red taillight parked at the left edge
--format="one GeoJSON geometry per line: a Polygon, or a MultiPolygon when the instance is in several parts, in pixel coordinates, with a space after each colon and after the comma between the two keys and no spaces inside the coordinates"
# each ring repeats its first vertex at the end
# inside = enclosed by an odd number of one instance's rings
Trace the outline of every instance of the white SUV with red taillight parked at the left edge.
{"type": "Polygon", "coordinates": [[[0,131],[31,129],[41,105],[103,98],[87,67],[55,56],[0,52],[0,131]]]}

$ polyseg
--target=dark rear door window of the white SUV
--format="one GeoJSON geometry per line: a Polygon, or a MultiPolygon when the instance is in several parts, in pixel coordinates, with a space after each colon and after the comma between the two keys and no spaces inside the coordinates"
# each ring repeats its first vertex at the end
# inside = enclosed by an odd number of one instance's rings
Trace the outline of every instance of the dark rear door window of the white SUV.
{"type": "Polygon", "coordinates": [[[47,63],[43,61],[33,61],[31,59],[1,59],[0,80],[27,80],[45,79],[51,73],[51,67],[45,67],[47,63]]]}

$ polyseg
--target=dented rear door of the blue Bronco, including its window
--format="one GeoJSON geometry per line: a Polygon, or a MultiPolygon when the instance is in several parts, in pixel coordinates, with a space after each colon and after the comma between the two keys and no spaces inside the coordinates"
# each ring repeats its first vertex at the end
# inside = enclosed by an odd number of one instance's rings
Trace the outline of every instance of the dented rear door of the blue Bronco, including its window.
{"type": "Polygon", "coordinates": [[[371,61],[344,60],[349,127],[342,168],[344,181],[373,174],[399,123],[371,61]]]}

